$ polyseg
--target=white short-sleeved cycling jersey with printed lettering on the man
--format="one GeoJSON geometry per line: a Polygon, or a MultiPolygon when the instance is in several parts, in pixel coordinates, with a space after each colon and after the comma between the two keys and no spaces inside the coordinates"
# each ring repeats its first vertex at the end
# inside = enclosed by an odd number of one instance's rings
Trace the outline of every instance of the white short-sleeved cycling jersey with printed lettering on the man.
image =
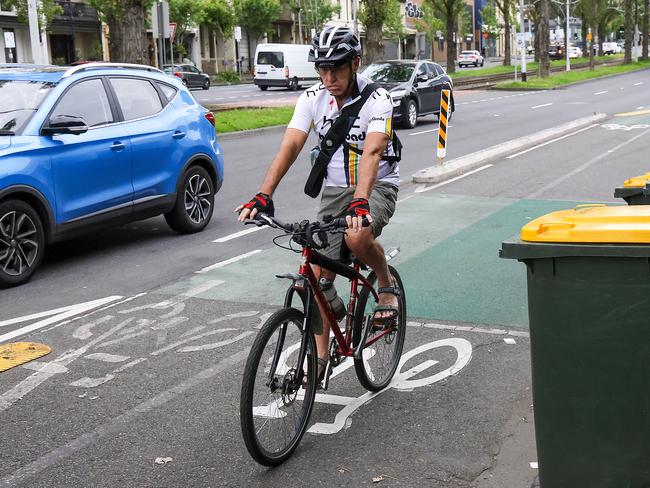
{"type": "MultiPolygon", "coordinates": [[[[348,98],[343,107],[354,103],[368,83],[371,83],[368,78],[357,75],[358,92],[356,92],[354,98],[348,98]]],[[[341,114],[341,110],[339,110],[334,97],[319,82],[305,90],[298,98],[296,109],[289,123],[289,128],[298,129],[309,134],[313,126],[320,141],[325,137],[332,123],[341,114]]],[[[361,155],[356,151],[360,152],[363,150],[366,135],[370,132],[383,132],[388,137],[392,137],[393,135],[393,102],[388,92],[383,88],[375,90],[361,108],[357,121],[352,126],[346,138],[350,147],[346,148],[345,145],[341,145],[336,153],[334,153],[327,166],[325,186],[356,186],[359,163],[361,162],[361,155]]],[[[395,155],[393,145],[390,141],[388,142],[384,155],[395,155]]],[[[389,163],[382,159],[377,171],[377,180],[398,186],[398,163],[389,163]]]]}

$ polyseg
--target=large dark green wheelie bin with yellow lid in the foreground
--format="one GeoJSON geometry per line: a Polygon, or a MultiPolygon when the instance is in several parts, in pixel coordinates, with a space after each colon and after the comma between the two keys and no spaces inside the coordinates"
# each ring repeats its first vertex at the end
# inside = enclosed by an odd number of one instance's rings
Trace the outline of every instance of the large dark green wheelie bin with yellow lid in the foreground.
{"type": "Polygon", "coordinates": [[[529,222],[526,264],[541,488],[650,487],[650,206],[529,222]]]}

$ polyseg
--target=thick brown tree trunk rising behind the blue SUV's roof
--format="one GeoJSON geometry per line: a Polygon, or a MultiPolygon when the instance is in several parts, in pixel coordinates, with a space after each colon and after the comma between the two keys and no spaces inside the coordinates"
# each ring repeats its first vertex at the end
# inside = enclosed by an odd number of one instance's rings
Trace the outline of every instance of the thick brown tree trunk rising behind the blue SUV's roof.
{"type": "Polygon", "coordinates": [[[149,64],[146,18],[142,0],[124,0],[121,15],[107,17],[111,61],[149,64]]]}

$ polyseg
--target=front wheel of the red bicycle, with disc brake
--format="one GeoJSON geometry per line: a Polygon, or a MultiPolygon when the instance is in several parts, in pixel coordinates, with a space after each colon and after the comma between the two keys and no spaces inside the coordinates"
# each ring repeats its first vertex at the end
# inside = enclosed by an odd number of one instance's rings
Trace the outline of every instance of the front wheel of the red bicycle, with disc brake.
{"type": "Polygon", "coordinates": [[[244,443],[258,463],[275,466],[286,461],[307,428],[316,394],[316,343],[303,335],[304,314],[285,308],[262,326],[244,369],[240,420],[244,443]],[[307,341],[303,364],[306,385],[298,377],[298,356],[307,341]],[[271,367],[277,364],[271,376],[271,367]]]}

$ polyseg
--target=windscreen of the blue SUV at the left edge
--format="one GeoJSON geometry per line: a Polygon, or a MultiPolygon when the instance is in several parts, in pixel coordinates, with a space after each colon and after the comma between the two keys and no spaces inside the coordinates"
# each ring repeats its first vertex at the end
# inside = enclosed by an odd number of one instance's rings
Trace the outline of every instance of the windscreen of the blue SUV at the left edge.
{"type": "Polygon", "coordinates": [[[0,131],[20,132],[56,83],[0,80],[0,131]]]}

